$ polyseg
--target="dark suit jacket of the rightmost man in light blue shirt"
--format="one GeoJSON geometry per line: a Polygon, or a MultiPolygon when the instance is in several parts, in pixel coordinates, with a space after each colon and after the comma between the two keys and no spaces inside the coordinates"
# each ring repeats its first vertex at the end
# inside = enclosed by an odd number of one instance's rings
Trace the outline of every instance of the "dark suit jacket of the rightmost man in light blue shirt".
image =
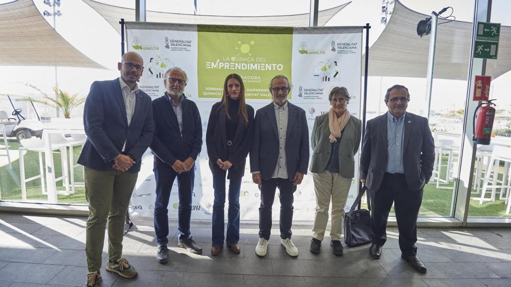
{"type": "MultiPolygon", "coordinates": [[[[428,183],[433,172],[435,145],[428,119],[407,112],[404,119],[403,167],[410,190],[419,190],[428,183]]],[[[367,121],[360,178],[372,192],[380,188],[388,158],[387,113],[367,121]]]]}

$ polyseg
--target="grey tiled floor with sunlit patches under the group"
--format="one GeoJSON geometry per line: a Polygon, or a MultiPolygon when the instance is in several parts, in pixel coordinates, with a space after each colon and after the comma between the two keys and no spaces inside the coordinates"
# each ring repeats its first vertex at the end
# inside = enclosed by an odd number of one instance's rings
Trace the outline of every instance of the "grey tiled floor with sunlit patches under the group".
{"type": "MultiPolygon", "coordinates": [[[[0,287],[83,286],[87,273],[83,217],[49,217],[0,212],[0,287]]],[[[327,237],[320,254],[309,252],[310,226],[293,226],[297,258],[289,257],[278,236],[270,239],[268,254],[255,255],[257,225],[243,224],[240,254],[210,253],[211,229],[192,223],[192,236],[204,252],[188,253],[172,237],[170,261],[155,260],[150,220],[134,219],[124,255],[138,270],[125,279],[102,270],[102,286],[511,286],[511,229],[419,229],[419,257],[428,272],[415,272],[400,257],[398,231],[389,228],[380,260],[368,255],[369,246],[345,248],[332,254],[327,237]]],[[[171,222],[171,229],[175,230],[171,222]]],[[[277,225],[274,225],[277,227],[277,225]]],[[[272,230],[278,234],[278,230],[272,230]]],[[[106,242],[106,241],[105,241],[106,242]]],[[[104,256],[107,246],[105,245],[104,256]]],[[[103,266],[106,258],[104,258],[103,266]]]]}

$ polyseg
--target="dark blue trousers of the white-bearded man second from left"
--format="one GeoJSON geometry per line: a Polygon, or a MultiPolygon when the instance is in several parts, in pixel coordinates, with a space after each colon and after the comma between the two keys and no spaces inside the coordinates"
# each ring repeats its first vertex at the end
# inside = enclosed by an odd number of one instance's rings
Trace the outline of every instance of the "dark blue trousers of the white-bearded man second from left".
{"type": "Polygon", "coordinates": [[[195,180],[195,164],[189,172],[178,174],[170,166],[155,168],[156,201],[154,203],[154,231],[157,244],[169,242],[169,200],[170,192],[177,177],[179,208],[177,210],[178,240],[190,237],[190,217],[192,216],[192,192],[195,180]]]}

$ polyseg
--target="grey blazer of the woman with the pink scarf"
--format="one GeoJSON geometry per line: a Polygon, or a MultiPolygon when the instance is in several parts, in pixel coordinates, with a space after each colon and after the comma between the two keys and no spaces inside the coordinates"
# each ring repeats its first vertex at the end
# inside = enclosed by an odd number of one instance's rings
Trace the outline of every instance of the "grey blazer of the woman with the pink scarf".
{"type": "MultiPolygon", "coordinates": [[[[328,113],[316,116],[311,135],[311,147],[313,150],[311,159],[311,173],[321,173],[327,167],[330,159],[332,143],[330,135],[328,113]]],[[[344,178],[355,176],[354,155],[360,147],[362,136],[362,122],[360,119],[350,116],[344,127],[341,142],[339,143],[339,174],[344,178]]]]}

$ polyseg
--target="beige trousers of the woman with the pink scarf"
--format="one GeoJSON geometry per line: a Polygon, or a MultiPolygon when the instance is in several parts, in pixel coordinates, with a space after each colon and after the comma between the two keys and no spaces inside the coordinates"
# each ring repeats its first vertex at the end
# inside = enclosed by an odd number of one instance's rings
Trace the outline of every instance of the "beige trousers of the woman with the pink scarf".
{"type": "Polygon", "coordinates": [[[332,198],[332,228],[331,240],[341,240],[342,225],[344,223],[344,205],[352,179],[344,178],[338,173],[323,171],[313,173],[314,191],[316,193],[316,216],[312,228],[312,237],[323,241],[324,232],[327,229],[328,209],[332,198]]]}

